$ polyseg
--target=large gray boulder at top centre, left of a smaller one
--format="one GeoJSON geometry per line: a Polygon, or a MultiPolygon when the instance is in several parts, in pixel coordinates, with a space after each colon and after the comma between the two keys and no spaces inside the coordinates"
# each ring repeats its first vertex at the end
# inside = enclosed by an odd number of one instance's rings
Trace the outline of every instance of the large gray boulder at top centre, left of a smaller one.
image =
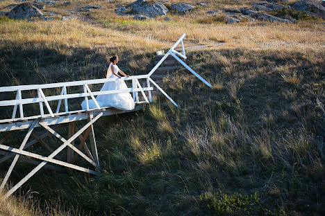
{"type": "Polygon", "coordinates": [[[161,1],[137,0],[127,6],[131,12],[146,15],[149,18],[165,16],[169,11],[161,1]]]}

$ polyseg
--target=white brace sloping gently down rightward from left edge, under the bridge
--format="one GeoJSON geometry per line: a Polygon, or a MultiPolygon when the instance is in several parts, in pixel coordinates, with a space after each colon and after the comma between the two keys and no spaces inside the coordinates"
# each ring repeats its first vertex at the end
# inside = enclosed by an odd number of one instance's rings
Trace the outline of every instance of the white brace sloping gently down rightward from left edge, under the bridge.
{"type": "Polygon", "coordinates": [[[10,151],[10,152],[15,152],[17,155],[22,154],[24,156],[31,156],[34,159],[40,159],[42,161],[47,161],[47,162],[55,163],[55,164],[58,164],[58,165],[63,165],[65,167],[67,167],[67,168],[72,168],[74,170],[88,172],[90,174],[96,174],[96,175],[99,174],[99,172],[96,172],[96,171],[93,171],[93,170],[89,170],[87,168],[82,168],[82,167],[80,167],[78,165],[73,165],[71,163],[66,163],[66,162],[63,162],[63,161],[56,160],[56,159],[51,159],[51,158],[49,158],[47,156],[42,156],[40,154],[35,154],[35,153],[32,153],[32,152],[27,152],[27,151],[20,150],[20,149],[18,150],[15,147],[9,147],[7,145],[0,145],[0,149],[7,150],[7,151],[10,151]]]}

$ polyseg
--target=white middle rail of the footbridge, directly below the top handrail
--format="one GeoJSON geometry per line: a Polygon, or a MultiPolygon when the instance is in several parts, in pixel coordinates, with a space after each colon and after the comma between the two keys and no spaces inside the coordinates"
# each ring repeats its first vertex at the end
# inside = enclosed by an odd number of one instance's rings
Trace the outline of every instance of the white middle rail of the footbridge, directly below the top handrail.
{"type": "MultiPolygon", "coordinates": [[[[151,88],[143,88],[143,91],[152,91],[153,89],[151,88]]],[[[131,92],[131,91],[140,91],[140,89],[133,89],[133,88],[128,88],[128,89],[119,89],[119,90],[109,90],[109,91],[94,91],[92,92],[93,96],[99,96],[99,95],[104,95],[104,94],[110,94],[110,93],[126,93],[126,92],[131,92]]],[[[53,100],[60,100],[60,99],[72,99],[72,98],[82,98],[85,96],[91,96],[90,93],[71,93],[71,94],[66,94],[66,95],[60,95],[60,96],[48,96],[47,101],[53,101],[53,100]]],[[[43,99],[41,97],[39,98],[26,98],[22,100],[2,100],[0,101],[0,107],[2,106],[14,106],[17,104],[22,104],[22,105],[27,105],[35,102],[42,102],[43,99]]]]}

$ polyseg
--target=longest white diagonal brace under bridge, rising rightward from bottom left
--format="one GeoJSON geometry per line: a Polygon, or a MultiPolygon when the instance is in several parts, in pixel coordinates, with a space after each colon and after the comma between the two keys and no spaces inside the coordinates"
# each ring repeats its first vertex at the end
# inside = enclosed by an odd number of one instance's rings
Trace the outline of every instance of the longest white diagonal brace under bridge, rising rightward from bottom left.
{"type": "MultiPolygon", "coordinates": [[[[61,145],[60,147],[58,147],[58,149],[56,149],[52,154],[50,154],[47,159],[53,159],[54,156],[56,156],[58,153],[60,153],[66,146],[67,143],[70,143],[72,141],[74,141],[74,139],[81,134],[85,129],[87,129],[90,125],[92,125],[92,123],[96,122],[96,120],[98,120],[101,116],[103,116],[103,112],[101,112],[100,114],[98,114],[94,119],[92,119],[88,124],[86,124],[85,126],[83,126],[78,132],[76,132],[76,134],[74,134],[74,136],[72,136],[71,138],[69,138],[65,143],[63,143],[63,145],[61,145]]],[[[1,145],[0,145],[1,147],[1,145]]],[[[19,150],[21,151],[21,150],[19,150]]],[[[60,161],[61,163],[65,163],[63,161],[60,161]]],[[[28,179],[30,179],[31,177],[33,177],[33,175],[38,172],[38,170],[40,170],[44,165],[47,164],[47,161],[42,161],[42,163],[40,163],[37,167],[35,167],[31,172],[29,172],[26,177],[24,177],[22,180],[20,180],[14,187],[12,187],[5,195],[5,198],[9,197],[10,195],[12,195],[13,192],[15,192],[20,186],[22,186],[22,184],[24,184],[28,179]]],[[[72,165],[71,166],[75,166],[76,165],[72,165]]],[[[72,168],[72,167],[70,167],[72,168]]],[[[76,169],[76,168],[74,168],[76,169]]],[[[88,170],[89,171],[89,170],[88,170]]],[[[90,173],[90,172],[89,172],[90,173]]],[[[92,171],[92,174],[94,174],[94,171],[92,171]]]]}

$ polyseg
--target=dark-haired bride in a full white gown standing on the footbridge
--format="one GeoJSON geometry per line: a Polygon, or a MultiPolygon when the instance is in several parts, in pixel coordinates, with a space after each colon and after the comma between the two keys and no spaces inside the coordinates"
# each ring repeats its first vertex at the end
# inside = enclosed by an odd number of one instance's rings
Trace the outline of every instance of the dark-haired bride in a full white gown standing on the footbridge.
{"type": "MultiPolygon", "coordinates": [[[[110,66],[108,66],[106,78],[119,78],[116,81],[108,81],[103,84],[101,87],[101,91],[109,91],[109,90],[119,90],[119,89],[128,89],[124,80],[120,80],[121,76],[118,73],[124,75],[124,77],[128,77],[123,71],[119,69],[117,66],[117,62],[119,59],[116,55],[110,58],[110,66]]],[[[133,98],[131,94],[128,92],[124,93],[109,93],[105,95],[99,95],[96,97],[96,100],[99,104],[99,107],[115,107],[116,109],[123,110],[132,110],[135,107],[133,98]]],[[[89,108],[96,108],[94,104],[94,100],[88,100],[89,108]]],[[[81,103],[82,109],[86,109],[86,102],[83,100],[81,103]]]]}

